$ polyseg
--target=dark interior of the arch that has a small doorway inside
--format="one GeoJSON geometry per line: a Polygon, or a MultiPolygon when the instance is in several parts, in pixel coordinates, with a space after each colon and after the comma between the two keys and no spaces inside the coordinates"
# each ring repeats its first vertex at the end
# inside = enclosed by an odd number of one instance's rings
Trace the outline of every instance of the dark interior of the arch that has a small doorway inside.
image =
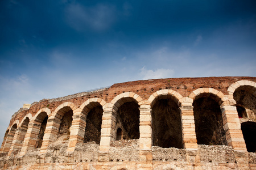
{"type": "Polygon", "coordinates": [[[117,111],[117,125],[122,127],[123,139],[139,139],[139,105],[124,103],[117,111]]]}

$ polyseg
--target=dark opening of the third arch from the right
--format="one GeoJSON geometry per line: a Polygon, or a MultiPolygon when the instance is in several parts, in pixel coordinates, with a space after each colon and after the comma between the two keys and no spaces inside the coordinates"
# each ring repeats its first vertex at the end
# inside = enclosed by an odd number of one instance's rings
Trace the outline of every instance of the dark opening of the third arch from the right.
{"type": "Polygon", "coordinates": [[[156,101],[152,108],[153,146],[183,148],[179,107],[171,99],[156,101]]]}

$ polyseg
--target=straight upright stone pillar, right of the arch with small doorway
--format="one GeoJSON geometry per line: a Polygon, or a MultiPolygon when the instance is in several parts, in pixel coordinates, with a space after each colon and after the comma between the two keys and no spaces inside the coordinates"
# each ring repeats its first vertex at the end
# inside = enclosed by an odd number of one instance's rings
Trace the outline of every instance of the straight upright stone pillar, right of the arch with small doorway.
{"type": "Polygon", "coordinates": [[[139,160],[152,161],[152,109],[150,105],[141,105],[139,108],[139,160]]]}

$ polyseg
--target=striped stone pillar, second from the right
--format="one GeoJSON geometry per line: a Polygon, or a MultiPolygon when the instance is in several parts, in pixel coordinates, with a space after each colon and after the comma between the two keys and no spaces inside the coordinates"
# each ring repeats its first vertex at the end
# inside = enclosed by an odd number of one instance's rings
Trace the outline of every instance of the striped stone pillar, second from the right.
{"type": "Polygon", "coordinates": [[[193,106],[181,105],[180,117],[182,125],[183,147],[186,149],[197,149],[196,126],[193,106]]]}

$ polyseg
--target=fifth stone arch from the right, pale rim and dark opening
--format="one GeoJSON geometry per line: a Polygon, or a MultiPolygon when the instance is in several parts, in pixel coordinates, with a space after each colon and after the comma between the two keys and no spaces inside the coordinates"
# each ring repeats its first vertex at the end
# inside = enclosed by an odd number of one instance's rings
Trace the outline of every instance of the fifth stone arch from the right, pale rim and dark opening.
{"type": "Polygon", "coordinates": [[[100,144],[103,106],[106,102],[103,99],[92,98],[86,100],[81,106],[81,113],[85,114],[84,143],[96,142],[100,144]]]}

